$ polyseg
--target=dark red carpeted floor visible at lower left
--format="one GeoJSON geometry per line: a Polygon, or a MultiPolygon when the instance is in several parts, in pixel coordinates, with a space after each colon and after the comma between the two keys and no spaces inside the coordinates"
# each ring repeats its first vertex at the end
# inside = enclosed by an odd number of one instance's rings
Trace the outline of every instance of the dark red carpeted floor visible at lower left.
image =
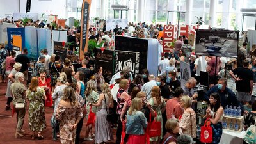
{"type": "MultiPolygon", "coordinates": [[[[47,122],[47,128],[42,132],[42,135],[45,137],[43,140],[31,140],[31,133],[29,132],[28,128],[28,109],[26,111],[26,116],[24,120],[24,125],[23,129],[26,130],[24,133],[25,136],[22,138],[15,138],[15,128],[16,128],[16,113],[12,117],[12,111],[6,111],[5,106],[6,106],[6,97],[5,97],[5,92],[6,92],[6,85],[7,83],[0,83],[0,143],[5,143],[5,144],[48,144],[48,143],[60,143],[59,140],[57,141],[52,141],[52,127],[50,124],[50,118],[52,116],[52,108],[46,108],[45,109],[45,117],[46,117],[46,122],[47,122]]],[[[81,132],[81,143],[86,143],[86,144],[92,144],[94,143],[93,141],[83,141],[83,137],[85,134],[85,125],[86,125],[86,120],[84,119],[83,123],[83,129],[81,132]]],[[[93,129],[94,131],[94,129],[93,129]]],[[[114,138],[115,136],[115,129],[113,130],[114,138]]],[[[113,141],[109,141],[108,143],[115,143],[113,141]]]]}

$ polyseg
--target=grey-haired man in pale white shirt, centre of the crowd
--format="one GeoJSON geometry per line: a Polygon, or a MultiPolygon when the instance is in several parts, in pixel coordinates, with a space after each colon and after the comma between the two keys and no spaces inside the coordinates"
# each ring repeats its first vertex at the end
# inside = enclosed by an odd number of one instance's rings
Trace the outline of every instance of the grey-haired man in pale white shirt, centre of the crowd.
{"type": "Polygon", "coordinates": [[[141,88],[141,92],[145,92],[147,95],[147,99],[151,98],[151,90],[153,88],[153,86],[156,86],[156,81],[155,81],[155,76],[153,74],[150,74],[148,76],[148,82],[145,83],[142,88],[141,88]]]}

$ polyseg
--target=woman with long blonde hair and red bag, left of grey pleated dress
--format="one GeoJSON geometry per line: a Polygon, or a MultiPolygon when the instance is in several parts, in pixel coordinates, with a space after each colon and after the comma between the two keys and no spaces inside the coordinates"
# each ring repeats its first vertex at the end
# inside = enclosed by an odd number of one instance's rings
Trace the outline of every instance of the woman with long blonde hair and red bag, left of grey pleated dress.
{"type": "MultiPolygon", "coordinates": [[[[87,87],[86,87],[84,94],[86,96],[86,102],[87,102],[86,110],[87,110],[87,113],[89,113],[90,106],[88,104],[89,103],[97,103],[99,100],[99,94],[97,93],[96,81],[91,79],[90,81],[87,82],[87,87]]],[[[97,111],[96,107],[92,106],[92,112],[96,113],[96,111],[97,111]]],[[[94,136],[94,134],[92,133],[92,124],[86,125],[84,140],[93,141],[93,139],[92,139],[93,136],[94,136]],[[89,133],[90,133],[90,136],[89,136],[89,133]]]]}

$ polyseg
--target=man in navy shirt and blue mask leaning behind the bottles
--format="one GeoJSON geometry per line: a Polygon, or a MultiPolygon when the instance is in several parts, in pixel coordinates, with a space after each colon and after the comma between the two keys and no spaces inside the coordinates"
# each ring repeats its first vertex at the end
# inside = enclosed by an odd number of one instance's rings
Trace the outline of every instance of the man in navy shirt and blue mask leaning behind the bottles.
{"type": "Polygon", "coordinates": [[[237,107],[240,106],[242,113],[248,112],[244,111],[244,106],[241,104],[241,102],[239,102],[239,100],[237,100],[235,93],[227,87],[227,79],[221,78],[216,86],[212,86],[210,90],[205,93],[204,100],[209,102],[209,97],[211,93],[214,92],[219,93],[221,106],[223,106],[223,108],[225,108],[227,105],[237,107]]]}

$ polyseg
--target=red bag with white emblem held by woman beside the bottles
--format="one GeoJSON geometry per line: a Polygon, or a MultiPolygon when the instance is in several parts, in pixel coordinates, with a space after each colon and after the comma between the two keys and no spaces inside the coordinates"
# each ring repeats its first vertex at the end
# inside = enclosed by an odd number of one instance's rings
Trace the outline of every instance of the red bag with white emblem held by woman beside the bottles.
{"type": "Polygon", "coordinates": [[[207,125],[209,118],[205,120],[204,125],[201,127],[201,137],[200,141],[202,143],[212,143],[212,127],[207,125]]]}

